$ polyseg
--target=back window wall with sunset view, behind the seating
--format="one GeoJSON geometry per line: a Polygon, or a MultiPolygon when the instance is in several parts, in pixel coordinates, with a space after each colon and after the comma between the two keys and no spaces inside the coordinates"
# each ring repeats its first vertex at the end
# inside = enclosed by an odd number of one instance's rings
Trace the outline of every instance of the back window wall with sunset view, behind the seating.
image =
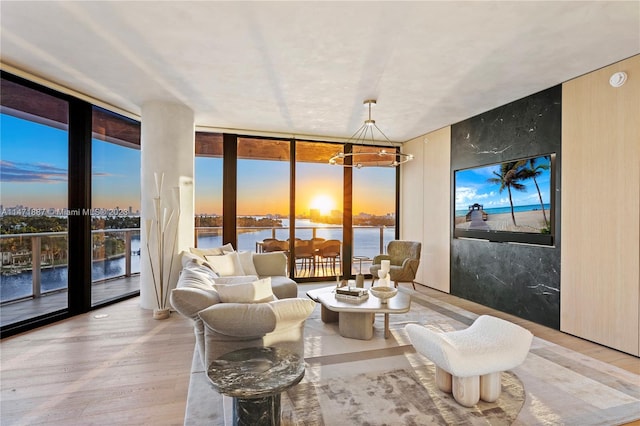
{"type": "Polygon", "coordinates": [[[283,251],[292,276],[303,281],[367,274],[373,256],[396,237],[397,169],[329,164],[344,149],[371,151],[373,157],[378,152],[360,145],[197,133],[198,246],[232,242],[238,250],[283,251]],[[230,179],[224,170],[231,170],[230,179]],[[234,212],[235,221],[227,225],[233,233],[223,232],[223,208],[234,212]],[[225,234],[232,237],[223,241],[225,234]]]}

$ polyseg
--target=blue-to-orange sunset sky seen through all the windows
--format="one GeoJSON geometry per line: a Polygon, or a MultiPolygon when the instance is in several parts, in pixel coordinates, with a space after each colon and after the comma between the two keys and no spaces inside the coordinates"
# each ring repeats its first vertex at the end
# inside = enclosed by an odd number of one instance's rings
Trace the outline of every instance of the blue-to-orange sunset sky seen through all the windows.
{"type": "MultiPolygon", "coordinates": [[[[1,203],[6,207],[67,206],[67,133],[2,114],[1,203]]],[[[93,142],[93,207],[140,209],[140,151],[93,142]]],[[[311,208],[342,210],[342,167],[300,163],[296,170],[296,214],[311,208]]],[[[354,214],[384,215],[395,208],[395,170],[354,170],[354,214]]],[[[222,213],[222,160],[196,158],[196,214],[222,213]]],[[[289,213],[289,163],[238,162],[238,214],[289,213]]],[[[326,212],[322,212],[325,214],[326,212]]]]}

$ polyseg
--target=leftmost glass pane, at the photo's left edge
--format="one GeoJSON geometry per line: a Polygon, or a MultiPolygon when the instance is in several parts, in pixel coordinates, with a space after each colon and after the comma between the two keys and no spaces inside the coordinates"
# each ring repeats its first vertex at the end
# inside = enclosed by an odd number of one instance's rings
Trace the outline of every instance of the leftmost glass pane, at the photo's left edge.
{"type": "Polygon", "coordinates": [[[68,306],[69,105],[2,78],[0,323],[68,306]],[[18,309],[19,300],[41,303],[18,309]]]}

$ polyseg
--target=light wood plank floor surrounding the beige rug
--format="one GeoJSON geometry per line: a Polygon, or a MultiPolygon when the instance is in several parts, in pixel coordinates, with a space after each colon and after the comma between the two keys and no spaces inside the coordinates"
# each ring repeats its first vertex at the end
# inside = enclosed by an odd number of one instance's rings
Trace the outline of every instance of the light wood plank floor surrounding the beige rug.
{"type": "MultiPolygon", "coordinates": [[[[304,284],[300,285],[304,294],[304,284]]],[[[473,302],[418,291],[640,374],[640,359],[473,302]]],[[[156,321],[139,298],[0,342],[0,423],[181,425],[194,349],[190,321],[156,321]]],[[[640,424],[638,422],[634,424],[640,424]]]]}

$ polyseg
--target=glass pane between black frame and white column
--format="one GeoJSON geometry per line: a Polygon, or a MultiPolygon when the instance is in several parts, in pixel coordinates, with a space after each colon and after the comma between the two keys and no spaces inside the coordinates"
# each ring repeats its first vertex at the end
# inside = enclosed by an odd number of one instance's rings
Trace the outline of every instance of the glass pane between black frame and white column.
{"type": "Polygon", "coordinates": [[[140,123],[93,108],[92,305],[139,291],[140,123]],[[117,278],[117,279],[115,279],[117,278]]]}

